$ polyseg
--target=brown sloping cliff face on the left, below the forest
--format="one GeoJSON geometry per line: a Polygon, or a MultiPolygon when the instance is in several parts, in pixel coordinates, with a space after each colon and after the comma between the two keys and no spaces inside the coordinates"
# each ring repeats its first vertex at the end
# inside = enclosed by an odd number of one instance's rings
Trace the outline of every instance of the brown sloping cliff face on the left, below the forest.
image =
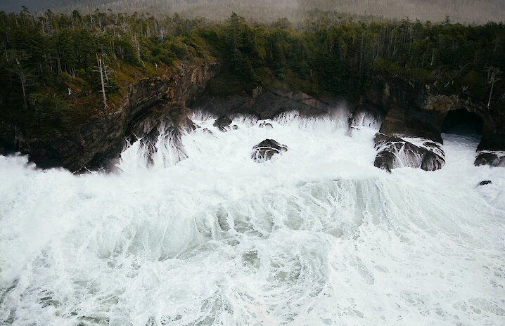
{"type": "Polygon", "coordinates": [[[125,140],[146,135],[160,122],[186,123],[186,103],[195,100],[218,71],[215,63],[181,63],[170,75],[143,79],[129,86],[118,110],[94,117],[65,136],[34,137],[0,123],[0,148],[27,153],[42,168],[109,169],[125,140]]]}

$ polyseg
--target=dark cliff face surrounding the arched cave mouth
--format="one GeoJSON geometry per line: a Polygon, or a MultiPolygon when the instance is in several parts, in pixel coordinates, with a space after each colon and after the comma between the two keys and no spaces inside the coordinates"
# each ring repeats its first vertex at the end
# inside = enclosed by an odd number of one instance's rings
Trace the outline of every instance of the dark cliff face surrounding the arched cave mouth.
{"type": "Polygon", "coordinates": [[[505,112],[499,106],[487,109],[465,96],[446,95],[428,86],[401,79],[372,79],[366,86],[364,106],[387,112],[381,133],[388,136],[426,138],[442,143],[442,126],[449,112],[465,110],[482,119],[479,150],[505,150],[505,112]]]}

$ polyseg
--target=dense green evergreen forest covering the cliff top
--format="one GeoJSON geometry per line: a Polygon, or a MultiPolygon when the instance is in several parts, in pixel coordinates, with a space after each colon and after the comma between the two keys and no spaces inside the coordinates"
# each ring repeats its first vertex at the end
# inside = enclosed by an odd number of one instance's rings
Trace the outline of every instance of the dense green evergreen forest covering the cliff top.
{"type": "Polygon", "coordinates": [[[114,110],[129,84],[175,63],[217,60],[210,93],[295,89],[359,96],[373,76],[429,84],[482,105],[504,105],[505,26],[361,22],[321,13],[293,25],[236,14],[0,13],[0,121],[30,133],[66,132],[114,110]],[[104,98],[102,90],[106,91],[104,98]]]}

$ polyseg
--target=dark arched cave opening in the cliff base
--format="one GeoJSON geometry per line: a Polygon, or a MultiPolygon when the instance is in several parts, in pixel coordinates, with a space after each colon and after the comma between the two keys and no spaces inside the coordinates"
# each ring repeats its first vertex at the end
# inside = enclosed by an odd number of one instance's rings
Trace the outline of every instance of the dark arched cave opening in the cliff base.
{"type": "Polygon", "coordinates": [[[458,135],[482,135],[482,118],[467,110],[449,111],[442,125],[442,133],[458,135]]]}

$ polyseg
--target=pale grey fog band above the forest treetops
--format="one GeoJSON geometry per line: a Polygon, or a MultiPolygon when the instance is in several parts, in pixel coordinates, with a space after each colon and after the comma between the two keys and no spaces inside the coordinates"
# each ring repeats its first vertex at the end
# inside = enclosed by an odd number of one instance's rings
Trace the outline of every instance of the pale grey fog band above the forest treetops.
{"type": "Polygon", "coordinates": [[[174,13],[210,19],[223,19],[232,11],[257,20],[287,17],[306,18],[312,9],[336,11],[347,15],[376,15],[384,19],[430,20],[438,22],[449,15],[452,21],[482,23],[505,17],[504,0],[0,0],[0,10],[82,12],[139,11],[174,13]]]}

